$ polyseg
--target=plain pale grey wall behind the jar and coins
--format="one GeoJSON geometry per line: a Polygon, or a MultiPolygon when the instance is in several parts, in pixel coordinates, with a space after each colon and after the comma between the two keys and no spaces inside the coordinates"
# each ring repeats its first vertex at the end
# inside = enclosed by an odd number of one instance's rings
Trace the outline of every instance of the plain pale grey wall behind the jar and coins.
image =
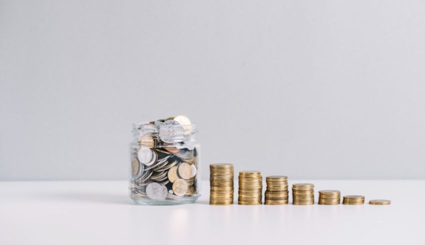
{"type": "Polygon", "coordinates": [[[125,179],[131,123],[208,164],[425,177],[425,2],[0,0],[0,180],[125,179]]]}

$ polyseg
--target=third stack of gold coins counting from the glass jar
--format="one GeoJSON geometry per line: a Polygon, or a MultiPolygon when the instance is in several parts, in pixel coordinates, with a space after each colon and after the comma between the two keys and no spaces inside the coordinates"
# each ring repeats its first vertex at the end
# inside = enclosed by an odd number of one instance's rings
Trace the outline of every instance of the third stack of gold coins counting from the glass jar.
{"type": "Polygon", "coordinates": [[[288,177],[267,176],[265,177],[265,183],[267,184],[267,189],[264,192],[264,204],[288,204],[288,177]]]}

